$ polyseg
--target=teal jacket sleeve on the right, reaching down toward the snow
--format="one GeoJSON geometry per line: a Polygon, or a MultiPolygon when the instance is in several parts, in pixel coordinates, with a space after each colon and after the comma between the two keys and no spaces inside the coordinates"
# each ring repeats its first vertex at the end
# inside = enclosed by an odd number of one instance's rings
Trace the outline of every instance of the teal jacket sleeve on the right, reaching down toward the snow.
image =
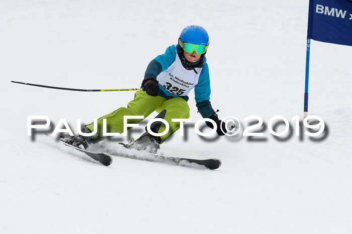
{"type": "MultiPolygon", "coordinates": [[[[198,84],[195,87],[196,106],[203,118],[209,118],[215,113],[210,103],[210,78],[208,64],[204,64],[204,68],[199,76],[198,84]]],[[[215,114],[216,115],[216,114],[215,114]]]]}

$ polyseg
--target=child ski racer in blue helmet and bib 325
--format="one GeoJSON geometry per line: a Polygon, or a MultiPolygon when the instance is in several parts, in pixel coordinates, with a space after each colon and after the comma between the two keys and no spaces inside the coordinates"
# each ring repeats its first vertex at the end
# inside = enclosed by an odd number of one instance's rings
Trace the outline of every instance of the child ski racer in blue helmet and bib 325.
{"type": "MultiPolygon", "coordinates": [[[[85,125],[84,133],[92,133],[98,128],[94,136],[76,135],[64,142],[76,147],[86,149],[89,144],[103,139],[103,119],[107,121],[110,132],[123,132],[124,116],[144,116],[146,118],[153,111],[159,114],[156,118],[164,119],[169,124],[169,130],[163,136],[153,136],[145,132],[137,140],[131,140],[126,148],[148,150],[156,152],[167,137],[180,128],[180,122],[172,122],[171,119],[188,119],[190,108],[187,104],[188,94],[194,89],[196,106],[203,118],[210,118],[216,123],[218,135],[225,135],[225,123],[219,120],[210,103],[210,79],[208,64],[205,54],[209,47],[207,31],[196,25],[186,27],[179,38],[178,45],[168,47],[164,54],[153,59],[145,72],[142,81],[143,91],[137,91],[134,99],[130,101],[127,108],[121,107],[85,125]]],[[[129,123],[139,123],[142,119],[132,119],[129,123]]],[[[207,126],[213,128],[213,124],[206,122],[207,126]]],[[[157,121],[151,124],[154,133],[165,130],[165,124],[157,121]]]]}

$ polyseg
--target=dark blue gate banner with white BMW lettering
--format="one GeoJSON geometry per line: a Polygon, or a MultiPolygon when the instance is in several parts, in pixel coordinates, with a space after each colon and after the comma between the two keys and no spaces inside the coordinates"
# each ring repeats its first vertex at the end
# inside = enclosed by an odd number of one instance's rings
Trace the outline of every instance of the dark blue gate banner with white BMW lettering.
{"type": "Polygon", "coordinates": [[[309,0],[307,39],[352,46],[352,0],[309,0]]]}

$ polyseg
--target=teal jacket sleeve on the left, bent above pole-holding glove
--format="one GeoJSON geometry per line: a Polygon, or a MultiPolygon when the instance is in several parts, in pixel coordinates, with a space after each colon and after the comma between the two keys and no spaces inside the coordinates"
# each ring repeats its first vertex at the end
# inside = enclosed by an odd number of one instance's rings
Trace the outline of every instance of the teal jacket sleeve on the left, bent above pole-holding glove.
{"type": "Polygon", "coordinates": [[[165,53],[153,59],[144,73],[144,78],[155,78],[164,70],[166,70],[176,59],[175,46],[170,46],[165,53]]]}

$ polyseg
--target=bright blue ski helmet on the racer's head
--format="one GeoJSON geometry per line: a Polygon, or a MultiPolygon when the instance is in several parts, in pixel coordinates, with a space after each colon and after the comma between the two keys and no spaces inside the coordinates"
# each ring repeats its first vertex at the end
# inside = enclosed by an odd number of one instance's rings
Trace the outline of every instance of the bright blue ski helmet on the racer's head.
{"type": "Polygon", "coordinates": [[[180,35],[182,42],[197,44],[197,45],[209,45],[209,36],[207,31],[197,25],[187,26],[180,35]]]}

